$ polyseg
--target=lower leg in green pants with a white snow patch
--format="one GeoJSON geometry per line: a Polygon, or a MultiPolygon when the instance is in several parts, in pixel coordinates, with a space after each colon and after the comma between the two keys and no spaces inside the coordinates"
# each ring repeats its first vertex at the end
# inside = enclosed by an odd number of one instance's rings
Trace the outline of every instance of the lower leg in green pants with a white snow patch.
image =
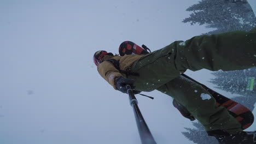
{"type": "Polygon", "coordinates": [[[157,90],[170,95],[187,107],[210,135],[236,134],[242,130],[241,124],[229,114],[228,110],[223,106],[216,106],[216,100],[206,89],[183,76],[177,77],[157,90]]]}

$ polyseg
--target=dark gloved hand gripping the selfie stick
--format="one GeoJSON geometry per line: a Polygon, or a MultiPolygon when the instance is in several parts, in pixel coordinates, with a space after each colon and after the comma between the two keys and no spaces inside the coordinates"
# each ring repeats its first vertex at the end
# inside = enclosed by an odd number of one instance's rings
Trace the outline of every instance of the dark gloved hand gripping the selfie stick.
{"type": "MultiPolygon", "coordinates": [[[[126,85],[130,85],[131,89],[135,88],[133,86],[134,80],[133,79],[127,79],[125,77],[117,77],[115,79],[115,86],[117,86],[118,91],[127,93],[126,85]]],[[[136,91],[134,94],[138,94],[140,91],[136,91]]]]}

